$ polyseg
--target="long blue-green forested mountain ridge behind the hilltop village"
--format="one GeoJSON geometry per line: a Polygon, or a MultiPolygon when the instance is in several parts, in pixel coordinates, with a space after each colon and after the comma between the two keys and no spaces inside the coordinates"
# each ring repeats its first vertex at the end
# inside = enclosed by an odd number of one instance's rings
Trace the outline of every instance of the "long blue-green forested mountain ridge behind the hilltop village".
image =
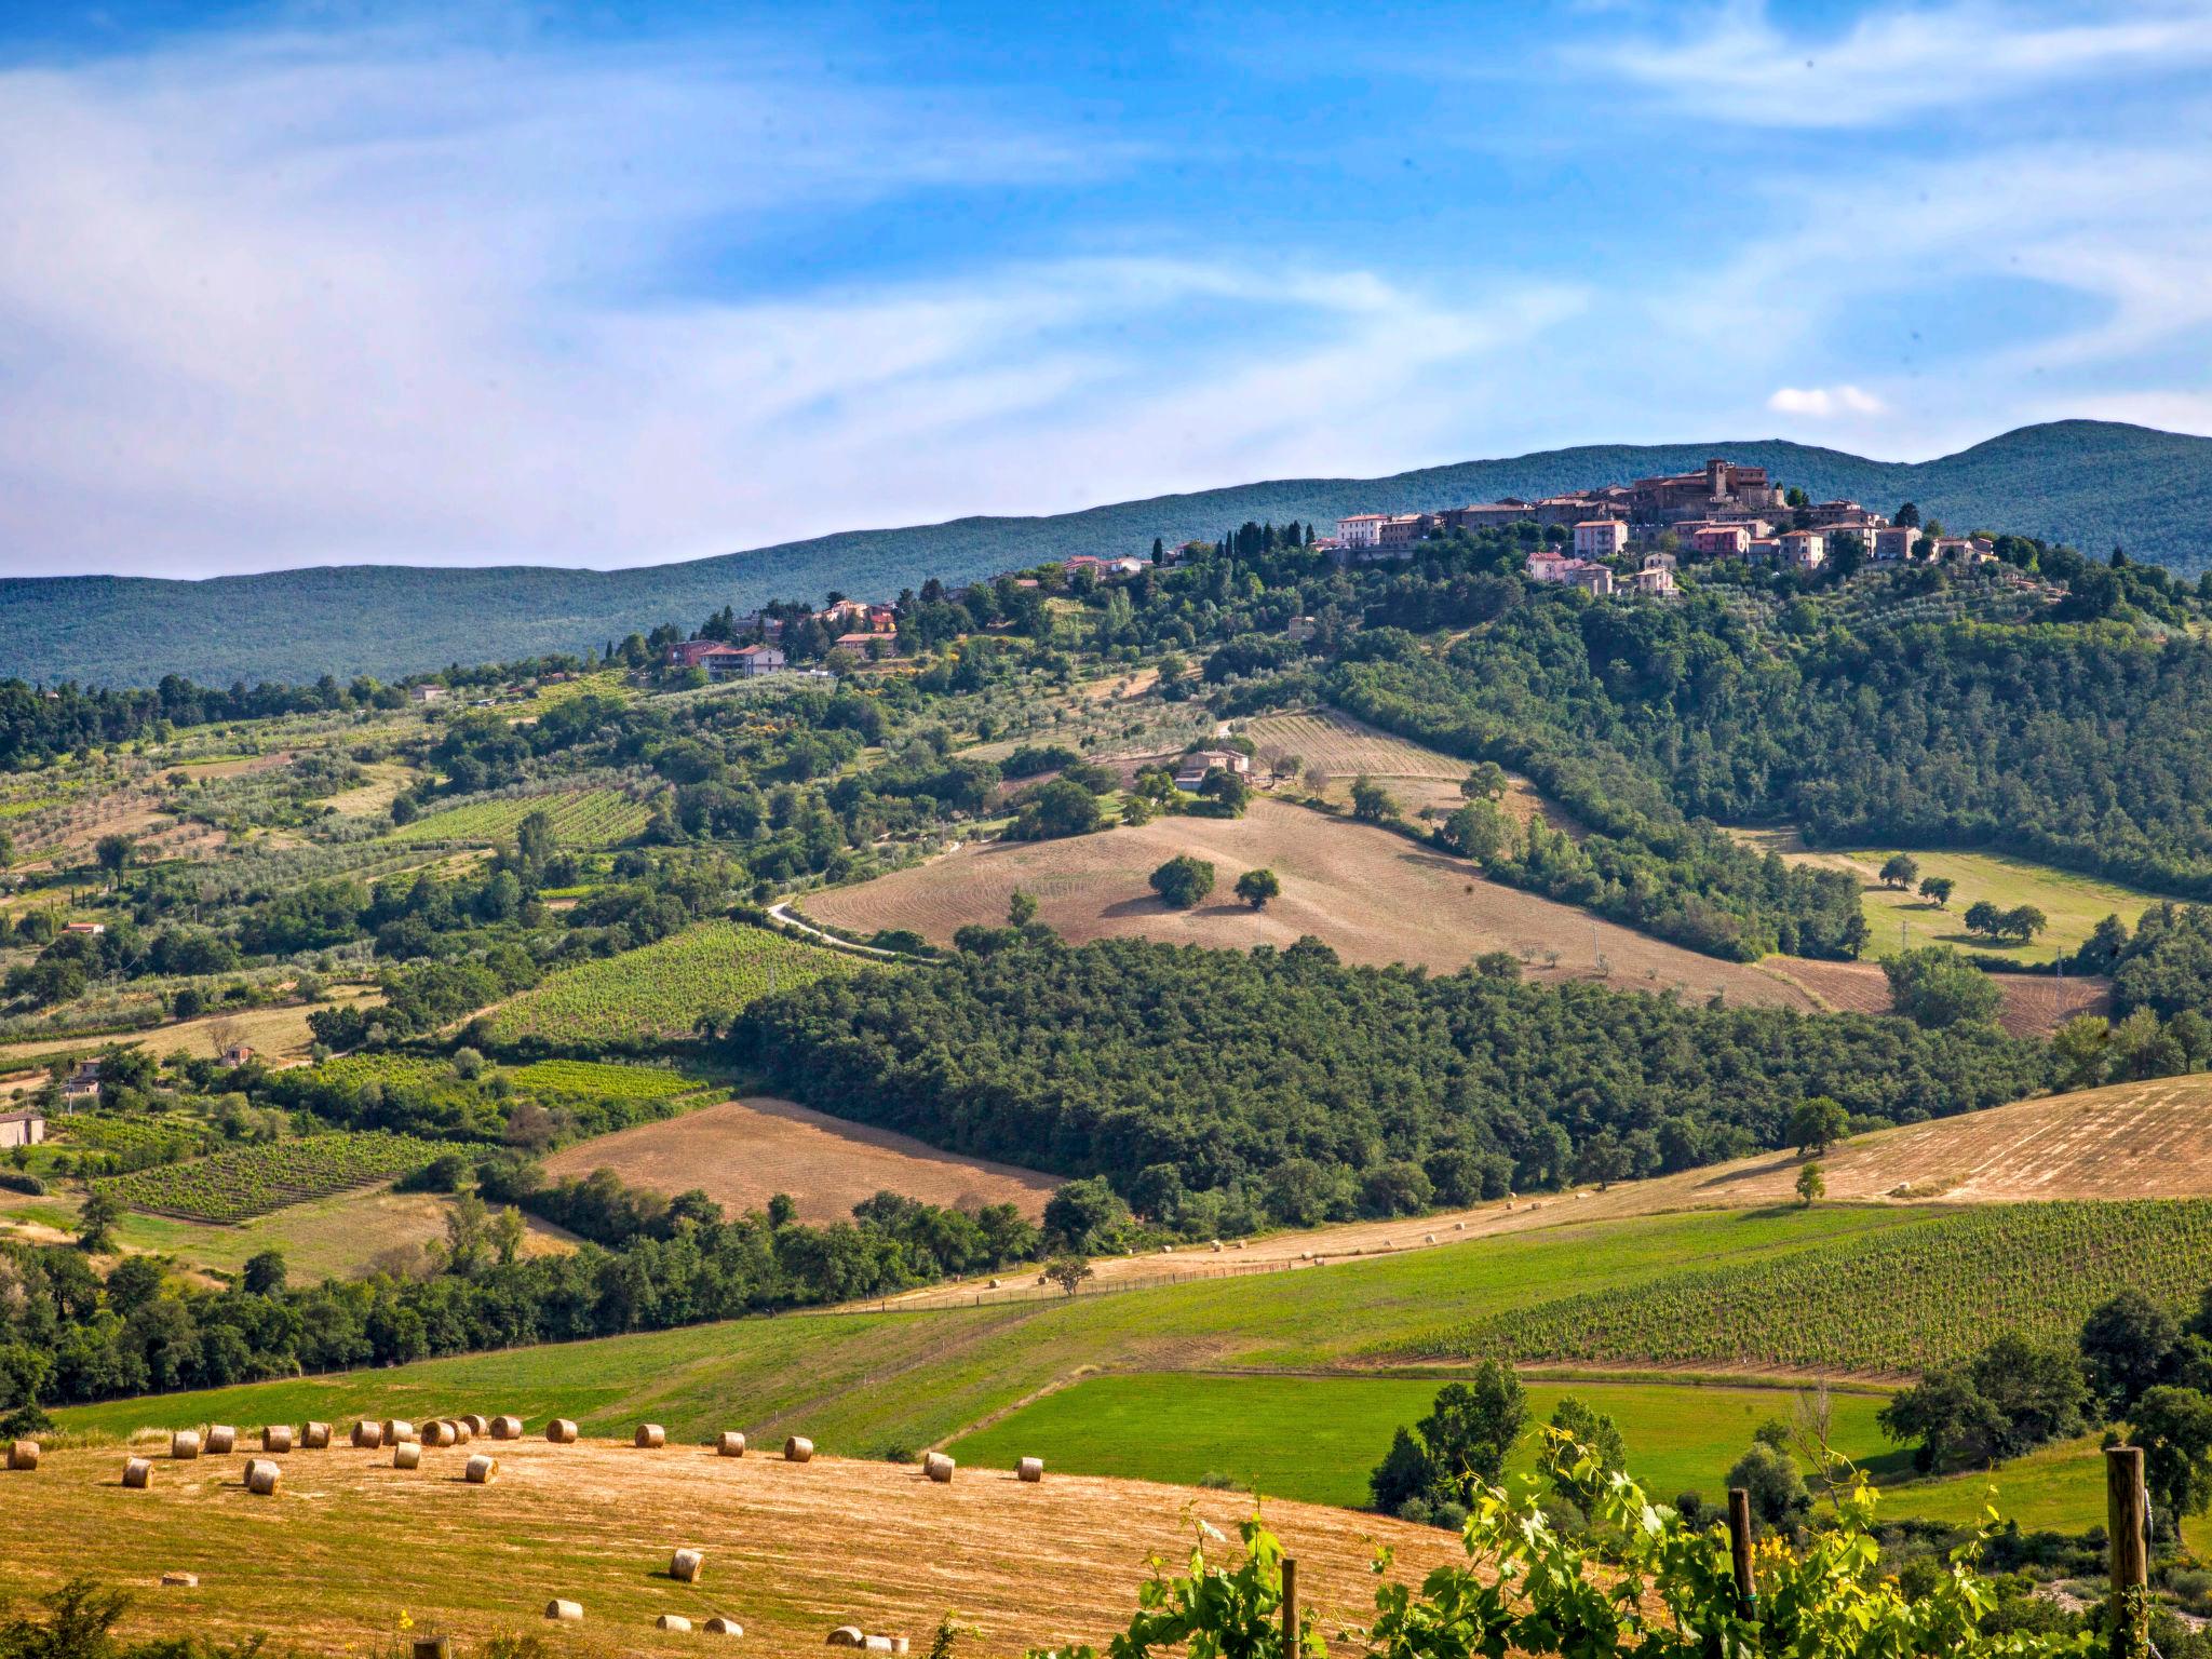
{"type": "Polygon", "coordinates": [[[186,675],[310,681],[396,677],[453,661],[595,650],[659,622],[695,626],[730,604],[821,602],[838,588],[891,597],[936,575],[967,582],[1075,553],[1146,553],[1245,520],[1460,507],[1688,471],[1728,456],[1801,484],[1814,500],[1880,511],[1913,500],[1953,529],[2004,529],[2088,553],[2126,546],[2194,575],[2212,564],[2212,438],[2104,420],[2020,427],[1955,456],[1887,462],[1783,440],[1584,445],[1469,460],[1391,478],[1290,478],[1091,507],[1051,518],[960,518],[630,571],[361,564],[168,582],[157,577],[0,580],[0,677],[142,686],[186,675]]]}

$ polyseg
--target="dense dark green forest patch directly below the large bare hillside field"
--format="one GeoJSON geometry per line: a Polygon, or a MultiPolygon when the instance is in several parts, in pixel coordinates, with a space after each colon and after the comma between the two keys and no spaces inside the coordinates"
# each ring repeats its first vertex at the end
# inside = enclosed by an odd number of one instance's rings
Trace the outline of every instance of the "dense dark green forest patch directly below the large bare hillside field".
{"type": "MultiPolygon", "coordinates": [[[[865,971],[748,1006],[730,1055],[794,1099],[933,1146],[1104,1177],[1139,1214],[1212,1194],[1221,1232],[1411,1214],[1783,1146],[1807,1099],[1858,1121],[2044,1086],[1989,1024],[1683,1006],[1252,953],[1011,938],[931,973],[865,971]]],[[[1179,1208],[1170,1206],[1170,1208],[1179,1208]]],[[[1190,1217],[1183,1217],[1188,1223],[1190,1217]]]]}

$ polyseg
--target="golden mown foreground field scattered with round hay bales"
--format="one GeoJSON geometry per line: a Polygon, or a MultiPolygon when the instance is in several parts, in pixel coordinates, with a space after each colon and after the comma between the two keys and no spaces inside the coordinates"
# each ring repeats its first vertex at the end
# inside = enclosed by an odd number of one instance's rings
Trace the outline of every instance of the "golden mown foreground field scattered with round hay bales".
{"type": "MultiPolygon", "coordinates": [[[[1020,1484],[962,1467],[940,1486],[911,1464],[542,1438],[425,1449],[420,1471],[392,1469],[389,1451],[292,1451],[279,1458],[279,1495],[252,1498],[243,1453],[179,1464],[166,1440],[135,1451],[153,1455],[148,1491],[124,1491],[113,1444],[0,1473],[18,1517],[9,1588],[44,1593],[95,1568],[133,1593],[135,1639],[268,1632],[279,1652],[392,1652],[409,1628],[467,1648],[538,1635],[553,1657],[717,1641],[655,1630],[661,1613],[732,1617],[743,1652],[770,1655],[816,1655],[838,1624],[909,1637],[922,1655],[947,1613],[969,1626],[962,1650],[982,1655],[1104,1646],[1137,1608],[1148,1553],[1179,1562],[1199,1522],[1234,1548],[1252,1506],[1234,1491],[1051,1471],[1020,1484]],[[476,1451],[500,1460],[489,1486],[460,1478],[476,1451]],[[706,1551],[699,1584],[666,1575],[677,1546],[706,1551]],[[197,1573],[199,1586],[159,1588],[164,1571],[197,1573]],[[549,1624],[555,1595],[580,1601],[584,1621],[549,1624]]],[[[1374,1544],[1396,1548],[1394,1577],[1409,1582],[1464,1559],[1451,1533],[1380,1515],[1270,1502],[1267,1524],[1298,1557],[1325,1630],[1371,1613],[1374,1544]]]]}

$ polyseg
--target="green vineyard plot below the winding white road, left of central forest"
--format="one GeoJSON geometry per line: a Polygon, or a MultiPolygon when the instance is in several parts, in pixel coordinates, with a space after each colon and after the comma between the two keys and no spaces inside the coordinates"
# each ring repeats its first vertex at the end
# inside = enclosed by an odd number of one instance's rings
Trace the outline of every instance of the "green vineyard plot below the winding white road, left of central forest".
{"type": "Polygon", "coordinates": [[[770,989],[852,973],[858,958],[743,922],[701,922],[675,938],[562,969],[491,1015],[491,1042],[648,1051],[690,1037],[701,1015],[728,1020],[770,989]]]}

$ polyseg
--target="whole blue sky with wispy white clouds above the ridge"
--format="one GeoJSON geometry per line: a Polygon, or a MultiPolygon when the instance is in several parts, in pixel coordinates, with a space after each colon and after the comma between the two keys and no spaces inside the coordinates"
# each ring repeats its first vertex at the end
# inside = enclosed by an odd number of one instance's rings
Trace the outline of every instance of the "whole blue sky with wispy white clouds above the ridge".
{"type": "Polygon", "coordinates": [[[0,9],[0,571],[2212,431],[2212,0],[0,9]]]}

